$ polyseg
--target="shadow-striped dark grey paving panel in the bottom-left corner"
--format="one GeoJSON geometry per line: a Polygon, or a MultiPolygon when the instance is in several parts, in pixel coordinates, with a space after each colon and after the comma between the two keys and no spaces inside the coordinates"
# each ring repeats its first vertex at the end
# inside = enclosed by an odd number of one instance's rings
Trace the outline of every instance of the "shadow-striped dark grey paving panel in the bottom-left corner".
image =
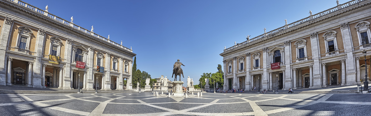
{"type": "Polygon", "coordinates": [[[0,106],[0,116],[82,116],[33,104],[0,106]]]}

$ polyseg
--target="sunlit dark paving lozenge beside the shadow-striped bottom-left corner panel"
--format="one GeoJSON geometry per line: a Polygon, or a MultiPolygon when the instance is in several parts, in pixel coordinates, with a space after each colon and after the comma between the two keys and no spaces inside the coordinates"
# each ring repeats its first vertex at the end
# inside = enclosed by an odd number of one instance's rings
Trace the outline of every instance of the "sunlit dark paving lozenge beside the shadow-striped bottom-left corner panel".
{"type": "Polygon", "coordinates": [[[66,109],[78,110],[82,112],[92,112],[99,103],[96,102],[88,102],[83,100],[63,100],[63,101],[54,101],[54,102],[43,102],[47,105],[63,107],[66,109]]]}

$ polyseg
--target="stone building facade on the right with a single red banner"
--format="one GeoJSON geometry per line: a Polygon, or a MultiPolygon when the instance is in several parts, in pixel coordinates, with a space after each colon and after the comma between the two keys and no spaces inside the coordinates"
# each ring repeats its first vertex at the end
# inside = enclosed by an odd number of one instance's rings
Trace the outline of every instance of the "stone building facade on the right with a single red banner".
{"type": "Polygon", "coordinates": [[[288,90],[360,84],[365,66],[370,75],[371,0],[334,6],[224,49],[223,87],[288,90]]]}

